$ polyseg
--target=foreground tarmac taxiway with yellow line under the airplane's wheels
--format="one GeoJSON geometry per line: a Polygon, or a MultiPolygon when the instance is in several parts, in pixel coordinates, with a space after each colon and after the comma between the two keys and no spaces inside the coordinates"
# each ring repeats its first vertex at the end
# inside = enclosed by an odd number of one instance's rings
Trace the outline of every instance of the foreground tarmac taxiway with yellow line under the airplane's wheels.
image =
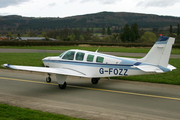
{"type": "Polygon", "coordinates": [[[0,103],[92,120],[180,119],[180,86],[123,80],[68,77],[58,88],[55,76],[0,69],[0,103]]]}

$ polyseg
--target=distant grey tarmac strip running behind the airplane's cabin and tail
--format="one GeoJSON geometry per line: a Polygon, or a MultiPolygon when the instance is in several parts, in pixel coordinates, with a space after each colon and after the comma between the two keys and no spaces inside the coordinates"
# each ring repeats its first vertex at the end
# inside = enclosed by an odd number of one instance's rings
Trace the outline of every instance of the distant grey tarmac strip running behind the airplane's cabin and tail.
{"type": "MultiPolygon", "coordinates": [[[[0,53],[63,53],[64,50],[36,50],[36,49],[3,49],[0,53]]],[[[147,53],[100,52],[116,56],[144,57],[147,53]]],[[[171,54],[171,58],[180,58],[180,55],[171,54]]]]}

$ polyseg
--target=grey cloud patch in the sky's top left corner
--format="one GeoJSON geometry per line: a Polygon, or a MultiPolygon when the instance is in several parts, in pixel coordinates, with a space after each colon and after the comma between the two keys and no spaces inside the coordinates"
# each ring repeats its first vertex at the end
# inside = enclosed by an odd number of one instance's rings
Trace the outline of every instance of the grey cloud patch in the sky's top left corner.
{"type": "Polygon", "coordinates": [[[0,1],[0,8],[5,8],[8,6],[14,6],[14,5],[19,5],[24,2],[29,2],[30,0],[1,0],[0,1]]]}

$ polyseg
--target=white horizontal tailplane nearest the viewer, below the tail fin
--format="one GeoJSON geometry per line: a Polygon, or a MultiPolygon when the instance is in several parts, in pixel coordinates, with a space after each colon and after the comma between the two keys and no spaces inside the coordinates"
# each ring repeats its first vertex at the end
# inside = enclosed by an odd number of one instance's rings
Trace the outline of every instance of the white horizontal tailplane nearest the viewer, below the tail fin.
{"type": "Polygon", "coordinates": [[[154,72],[154,73],[164,73],[160,68],[151,65],[140,65],[140,66],[133,66],[138,68],[144,72],[154,72]]]}

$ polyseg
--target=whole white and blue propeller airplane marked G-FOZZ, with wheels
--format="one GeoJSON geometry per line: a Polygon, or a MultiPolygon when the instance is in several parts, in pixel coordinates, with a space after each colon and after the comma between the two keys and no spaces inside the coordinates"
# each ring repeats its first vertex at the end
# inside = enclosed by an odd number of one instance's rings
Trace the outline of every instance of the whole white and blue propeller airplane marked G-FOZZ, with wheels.
{"type": "Polygon", "coordinates": [[[92,78],[97,84],[102,77],[144,75],[164,73],[176,69],[168,64],[175,38],[160,36],[148,54],[141,58],[125,58],[112,55],[71,49],[60,56],[42,59],[45,67],[31,67],[3,64],[3,67],[48,73],[46,82],[51,82],[51,74],[56,74],[60,89],[66,88],[67,76],[92,78]]]}

